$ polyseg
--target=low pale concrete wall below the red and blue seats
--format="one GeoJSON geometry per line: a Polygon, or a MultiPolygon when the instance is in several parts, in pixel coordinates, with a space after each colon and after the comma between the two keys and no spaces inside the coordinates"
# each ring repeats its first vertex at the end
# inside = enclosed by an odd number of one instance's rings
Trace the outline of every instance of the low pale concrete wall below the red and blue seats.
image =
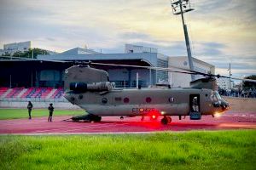
{"type": "MultiPolygon", "coordinates": [[[[60,110],[80,110],[79,106],[67,102],[52,102],[55,109],[60,110]]],[[[49,102],[32,102],[34,109],[47,109],[49,102]]],[[[26,108],[27,102],[0,101],[0,108],[26,108]]]]}

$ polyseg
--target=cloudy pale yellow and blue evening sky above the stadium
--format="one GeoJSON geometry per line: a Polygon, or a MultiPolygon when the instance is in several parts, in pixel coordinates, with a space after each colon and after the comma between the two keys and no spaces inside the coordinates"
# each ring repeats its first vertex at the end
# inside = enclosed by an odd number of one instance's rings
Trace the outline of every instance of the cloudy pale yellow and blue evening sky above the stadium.
{"type": "MultiPolygon", "coordinates": [[[[193,57],[233,77],[256,74],[256,1],[190,0],[185,14],[193,57]]],[[[169,0],[0,0],[0,48],[32,41],[63,52],[81,47],[124,53],[125,43],[187,55],[180,15],[169,0]]]]}

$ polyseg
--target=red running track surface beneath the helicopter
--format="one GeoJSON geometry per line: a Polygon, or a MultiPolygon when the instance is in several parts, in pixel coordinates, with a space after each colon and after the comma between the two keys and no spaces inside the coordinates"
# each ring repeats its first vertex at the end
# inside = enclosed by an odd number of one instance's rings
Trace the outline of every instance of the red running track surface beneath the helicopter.
{"type": "Polygon", "coordinates": [[[130,117],[120,120],[119,117],[103,117],[102,122],[64,122],[70,116],[55,116],[54,122],[47,122],[47,117],[15,120],[1,120],[0,133],[148,133],[158,131],[189,131],[189,130],[222,130],[222,129],[255,129],[256,112],[228,112],[224,116],[203,116],[200,121],[191,121],[189,116],[183,120],[172,117],[168,125],[150,122],[145,118],[130,117]]]}

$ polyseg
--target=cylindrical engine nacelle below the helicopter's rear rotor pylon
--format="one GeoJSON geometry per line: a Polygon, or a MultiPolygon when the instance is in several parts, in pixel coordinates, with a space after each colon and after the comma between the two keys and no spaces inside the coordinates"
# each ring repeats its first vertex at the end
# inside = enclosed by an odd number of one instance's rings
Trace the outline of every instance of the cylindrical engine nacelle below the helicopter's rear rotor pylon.
{"type": "Polygon", "coordinates": [[[85,82],[71,82],[69,88],[75,92],[102,92],[111,91],[113,84],[111,82],[94,82],[90,84],[85,82]]]}

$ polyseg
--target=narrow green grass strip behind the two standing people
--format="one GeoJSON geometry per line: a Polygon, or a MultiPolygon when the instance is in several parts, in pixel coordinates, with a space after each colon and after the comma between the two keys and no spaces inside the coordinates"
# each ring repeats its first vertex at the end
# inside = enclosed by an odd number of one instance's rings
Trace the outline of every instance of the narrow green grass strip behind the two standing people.
{"type": "MultiPolygon", "coordinates": [[[[55,110],[54,116],[61,115],[81,115],[84,114],[82,110],[67,111],[67,110],[55,110]]],[[[32,117],[49,116],[49,111],[44,110],[32,110],[32,117]]],[[[18,119],[27,118],[28,112],[26,109],[0,109],[0,120],[1,119],[18,119]]]]}

